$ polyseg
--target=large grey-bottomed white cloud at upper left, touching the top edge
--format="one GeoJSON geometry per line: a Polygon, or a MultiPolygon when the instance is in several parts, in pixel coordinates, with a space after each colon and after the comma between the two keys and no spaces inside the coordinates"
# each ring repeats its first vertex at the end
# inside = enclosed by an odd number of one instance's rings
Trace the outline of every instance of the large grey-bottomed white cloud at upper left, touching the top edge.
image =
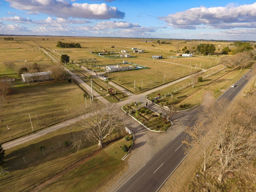
{"type": "Polygon", "coordinates": [[[102,4],[69,3],[66,0],[6,0],[10,6],[30,11],[30,14],[46,13],[61,18],[110,19],[123,18],[125,13],[116,7],[102,4]]]}

